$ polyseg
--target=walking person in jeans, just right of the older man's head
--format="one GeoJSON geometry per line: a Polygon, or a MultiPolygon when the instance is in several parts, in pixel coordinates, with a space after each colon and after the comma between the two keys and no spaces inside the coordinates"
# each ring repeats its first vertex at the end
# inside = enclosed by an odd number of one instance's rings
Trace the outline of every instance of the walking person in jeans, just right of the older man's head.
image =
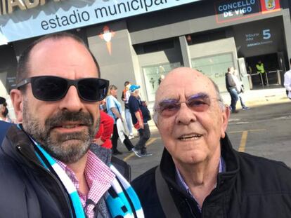
{"type": "Polygon", "coordinates": [[[226,73],[226,89],[229,95],[231,95],[231,113],[238,113],[236,109],[236,103],[238,102],[238,91],[236,90],[235,81],[233,81],[233,67],[228,67],[226,73]]]}

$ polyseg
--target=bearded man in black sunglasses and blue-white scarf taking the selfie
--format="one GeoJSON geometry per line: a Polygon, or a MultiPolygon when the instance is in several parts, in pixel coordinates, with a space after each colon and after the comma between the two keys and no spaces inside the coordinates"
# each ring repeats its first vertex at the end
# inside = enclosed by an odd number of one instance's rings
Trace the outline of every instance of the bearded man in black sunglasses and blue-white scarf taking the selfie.
{"type": "Polygon", "coordinates": [[[108,90],[99,76],[72,34],[44,36],[22,53],[11,90],[22,124],[8,130],[0,151],[1,217],[143,217],[110,151],[91,144],[108,90]]]}

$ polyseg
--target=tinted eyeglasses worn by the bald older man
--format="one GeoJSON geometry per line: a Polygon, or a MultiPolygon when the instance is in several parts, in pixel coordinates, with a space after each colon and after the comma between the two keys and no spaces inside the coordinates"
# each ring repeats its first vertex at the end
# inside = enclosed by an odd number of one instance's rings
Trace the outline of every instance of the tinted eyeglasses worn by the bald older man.
{"type": "MultiPolygon", "coordinates": [[[[214,98],[214,100],[217,99],[214,98]]],[[[185,102],[179,102],[179,100],[176,99],[162,100],[162,102],[157,105],[156,110],[162,116],[173,116],[177,111],[179,111],[182,103],[185,103],[187,107],[193,111],[202,112],[210,107],[211,98],[207,94],[196,94],[188,97],[185,102]]]]}

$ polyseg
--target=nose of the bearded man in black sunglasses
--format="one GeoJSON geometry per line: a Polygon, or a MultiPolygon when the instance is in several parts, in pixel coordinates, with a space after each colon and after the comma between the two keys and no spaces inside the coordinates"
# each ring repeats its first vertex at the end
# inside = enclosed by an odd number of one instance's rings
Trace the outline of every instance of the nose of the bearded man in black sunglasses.
{"type": "Polygon", "coordinates": [[[65,97],[60,100],[59,107],[61,110],[82,111],[84,105],[82,100],[79,98],[77,88],[75,86],[70,86],[65,97]]]}

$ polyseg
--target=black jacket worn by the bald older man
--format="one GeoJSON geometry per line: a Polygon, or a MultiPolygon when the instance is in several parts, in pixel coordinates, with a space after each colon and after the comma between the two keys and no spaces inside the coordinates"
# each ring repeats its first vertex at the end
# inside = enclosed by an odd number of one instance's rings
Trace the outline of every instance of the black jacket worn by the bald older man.
{"type": "MultiPolygon", "coordinates": [[[[172,157],[164,149],[160,169],[181,217],[290,218],[291,170],[284,163],[240,153],[221,139],[226,172],[205,198],[200,214],[193,198],[177,186],[172,157]]],[[[155,186],[155,168],[134,179],[145,218],[165,217],[155,186]]]]}

